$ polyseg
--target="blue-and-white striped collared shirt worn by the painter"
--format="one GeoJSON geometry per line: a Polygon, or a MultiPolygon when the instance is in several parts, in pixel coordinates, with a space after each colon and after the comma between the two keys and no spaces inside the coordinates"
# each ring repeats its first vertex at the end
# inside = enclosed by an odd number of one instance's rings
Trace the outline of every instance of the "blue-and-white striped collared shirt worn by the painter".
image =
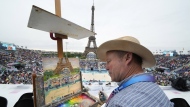
{"type": "MultiPolygon", "coordinates": [[[[137,75],[143,75],[137,74],[137,75]]],[[[137,76],[134,75],[134,76],[137,76]]],[[[126,78],[118,85],[128,81],[126,78]]],[[[114,95],[107,104],[107,107],[173,107],[163,90],[153,82],[138,82],[132,84],[114,95]]]]}

